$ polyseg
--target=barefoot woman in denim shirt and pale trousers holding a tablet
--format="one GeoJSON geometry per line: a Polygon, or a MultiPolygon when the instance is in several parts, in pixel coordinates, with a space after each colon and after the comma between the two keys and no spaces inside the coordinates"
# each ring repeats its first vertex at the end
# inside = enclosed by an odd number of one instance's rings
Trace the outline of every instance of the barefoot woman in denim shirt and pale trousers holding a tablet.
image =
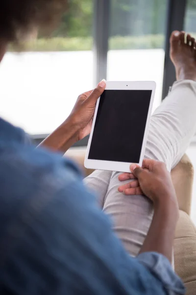
{"type": "MultiPolygon", "coordinates": [[[[64,0],[17,5],[3,0],[0,60],[9,43],[55,23],[64,5],[64,0]]],[[[38,149],[26,145],[22,130],[0,119],[1,294],[184,294],[169,263],[178,206],[167,169],[178,163],[196,132],[195,40],[190,35],[187,40],[184,32],[172,33],[178,82],[152,116],[146,169],[131,167],[138,180],[96,171],[85,179],[88,191],[70,160],[42,148],[65,152],[89,134],[104,80],[79,96],[69,118],[38,149]],[[96,206],[92,189],[130,255],[96,206]]]]}

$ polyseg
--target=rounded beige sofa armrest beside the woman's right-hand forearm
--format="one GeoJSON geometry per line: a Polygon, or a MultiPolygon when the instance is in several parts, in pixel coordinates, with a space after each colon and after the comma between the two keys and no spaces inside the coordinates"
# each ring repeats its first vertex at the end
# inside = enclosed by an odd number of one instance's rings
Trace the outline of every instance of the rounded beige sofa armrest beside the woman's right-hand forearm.
{"type": "Polygon", "coordinates": [[[178,198],[179,209],[188,215],[191,212],[194,168],[187,155],[172,170],[172,182],[178,198]]]}

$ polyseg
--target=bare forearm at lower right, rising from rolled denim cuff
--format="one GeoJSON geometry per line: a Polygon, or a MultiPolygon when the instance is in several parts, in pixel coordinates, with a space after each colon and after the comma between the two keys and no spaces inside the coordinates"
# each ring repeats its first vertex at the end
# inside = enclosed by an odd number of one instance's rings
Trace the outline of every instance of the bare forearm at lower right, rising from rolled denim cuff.
{"type": "Polygon", "coordinates": [[[164,203],[155,207],[152,223],[140,253],[157,252],[166,256],[172,263],[178,208],[171,201],[164,203]]]}

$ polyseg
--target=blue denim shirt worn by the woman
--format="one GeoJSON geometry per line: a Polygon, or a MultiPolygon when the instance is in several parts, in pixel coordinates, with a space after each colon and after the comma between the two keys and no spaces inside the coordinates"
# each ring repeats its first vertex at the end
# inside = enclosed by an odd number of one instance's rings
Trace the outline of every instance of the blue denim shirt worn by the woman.
{"type": "Polygon", "coordinates": [[[0,119],[0,294],[185,294],[169,261],[130,257],[69,159],[0,119]]]}

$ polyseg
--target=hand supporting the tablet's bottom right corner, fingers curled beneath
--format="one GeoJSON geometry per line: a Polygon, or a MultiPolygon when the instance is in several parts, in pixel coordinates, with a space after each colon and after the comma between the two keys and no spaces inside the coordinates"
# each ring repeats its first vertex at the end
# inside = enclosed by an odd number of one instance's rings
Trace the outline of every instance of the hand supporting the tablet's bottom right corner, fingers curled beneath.
{"type": "MultiPolygon", "coordinates": [[[[119,180],[138,179],[137,190],[145,194],[154,204],[164,202],[168,198],[177,204],[175,189],[172,184],[172,178],[167,171],[166,165],[155,160],[145,159],[143,168],[138,165],[131,165],[131,173],[124,173],[119,180]]],[[[136,188],[131,187],[131,182],[119,187],[119,191],[125,195],[135,195],[136,188]]]]}

